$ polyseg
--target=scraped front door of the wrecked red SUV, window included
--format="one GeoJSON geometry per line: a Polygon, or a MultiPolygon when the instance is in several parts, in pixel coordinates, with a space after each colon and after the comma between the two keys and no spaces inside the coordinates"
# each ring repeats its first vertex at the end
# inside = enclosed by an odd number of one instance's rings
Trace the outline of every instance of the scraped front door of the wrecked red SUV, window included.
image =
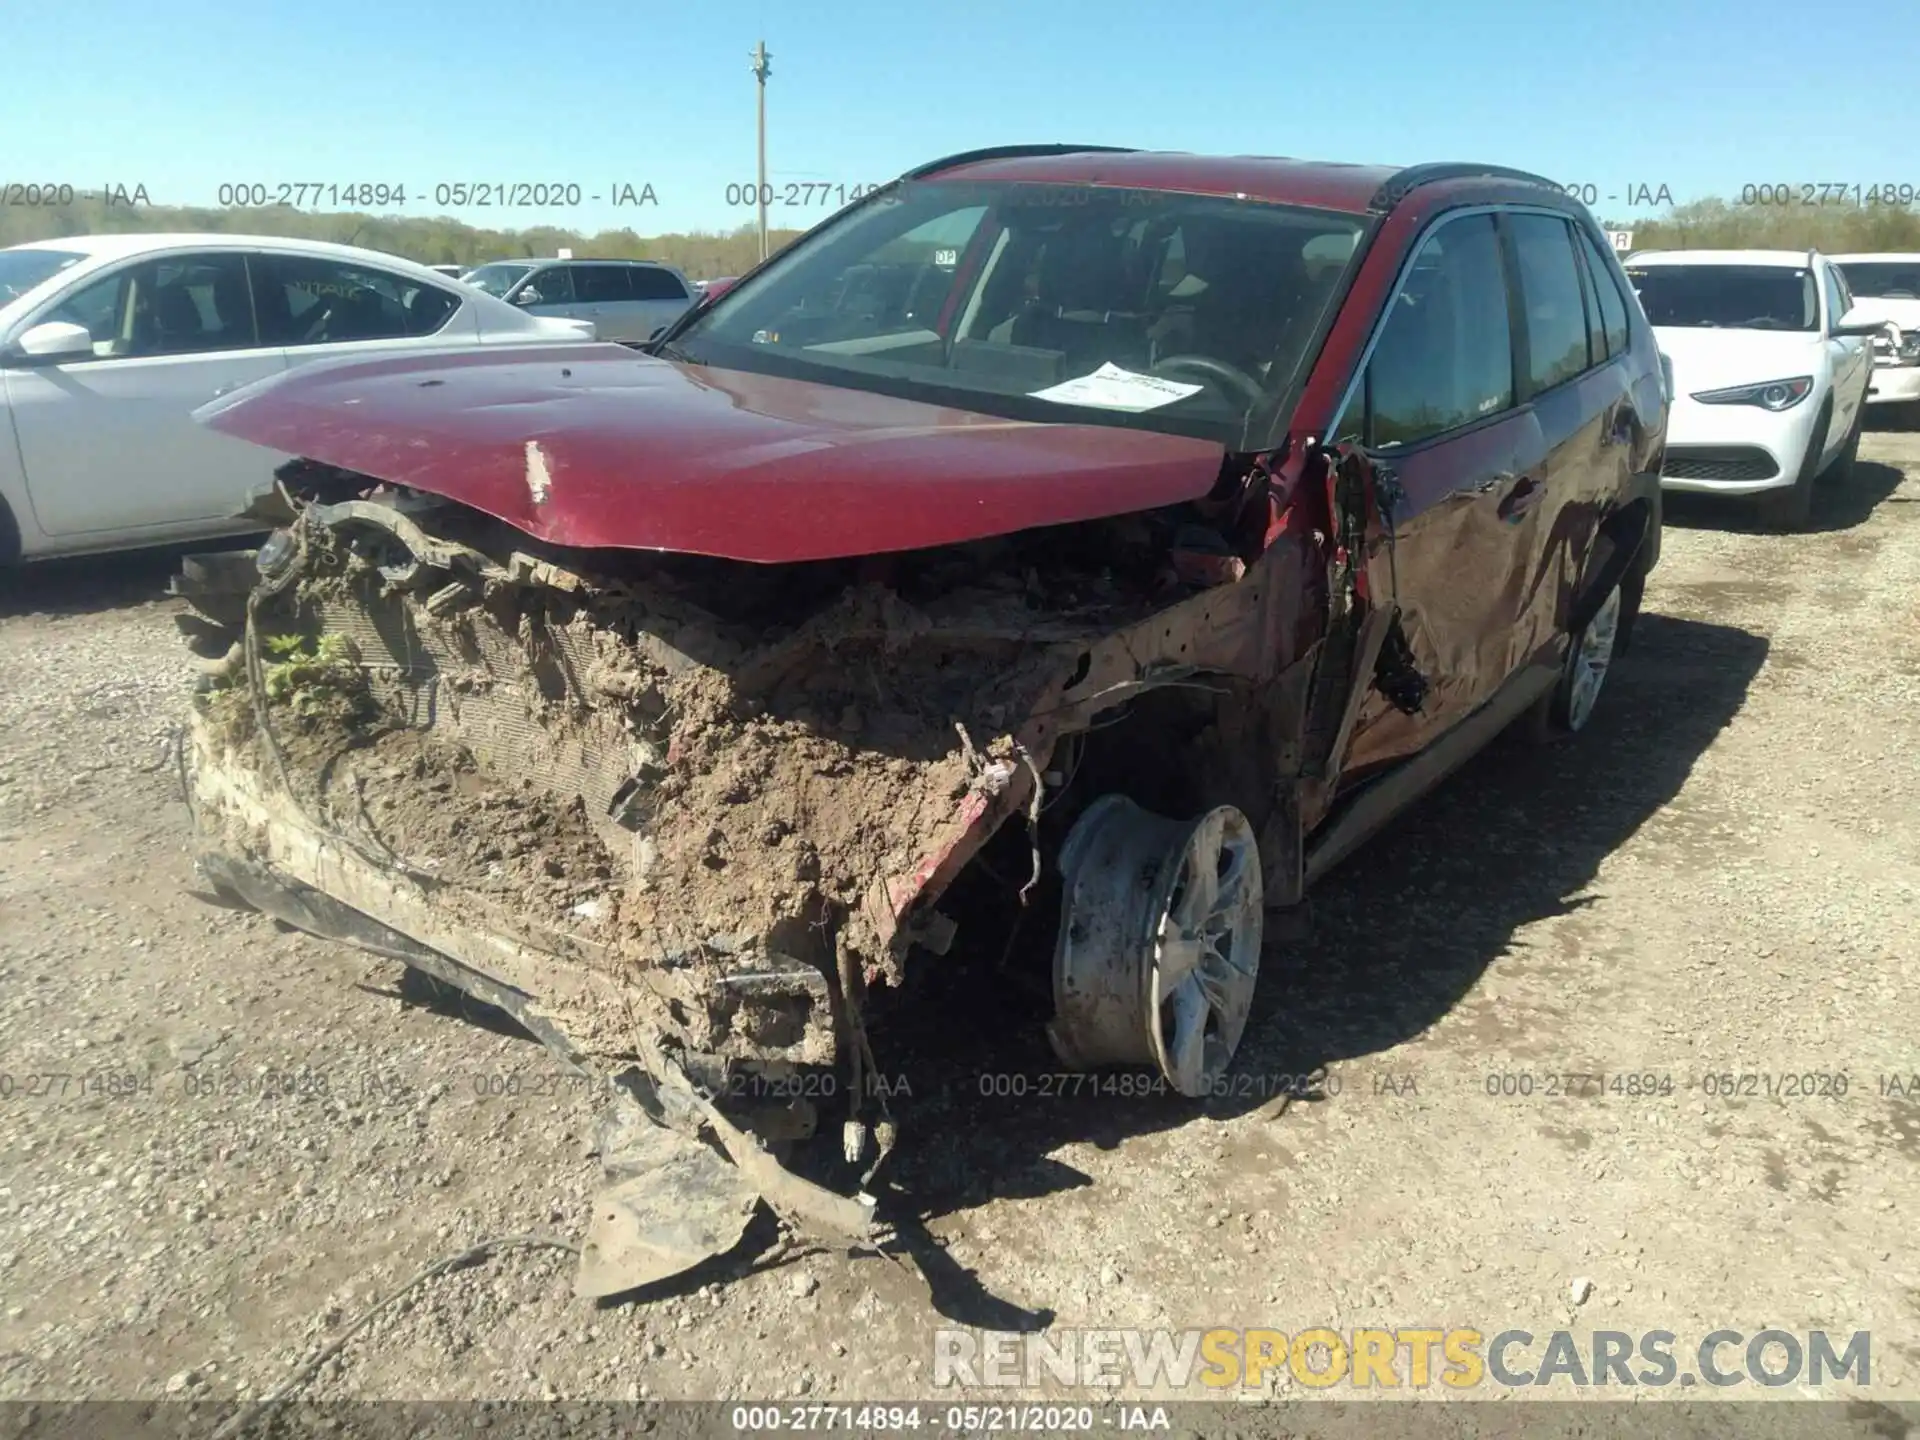
{"type": "Polygon", "coordinates": [[[1390,589],[1428,682],[1419,714],[1367,689],[1344,778],[1423,749],[1511,670],[1526,584],[1526,516],[1546,497],[1546,444],[1517,403],[1507,259],[1492,211],[1442,217],[1402,273],[1334,426],[1392,470],[1390,589]]]}

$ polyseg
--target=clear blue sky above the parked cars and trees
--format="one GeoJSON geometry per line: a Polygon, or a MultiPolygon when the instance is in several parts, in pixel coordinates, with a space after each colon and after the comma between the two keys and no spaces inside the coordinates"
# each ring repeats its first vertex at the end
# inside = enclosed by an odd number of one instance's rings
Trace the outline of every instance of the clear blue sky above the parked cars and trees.
{"type": "MultiPolygon", "coordinates": [[[[1908,0],[1910,4],[1910,0],[1908,0]]],[[[753,77],[776,182],[862,184],[954,150],[1075,140],[1484,159],[1676,200],[1920,184],[1920,13],[1788,0],[0,0],[0,180],[653,184],[659,205],[476,225],[753,219],[753,77]],[[1822,38],[1822,31],[1826,33],[1822,38]]],[[[1609,202],[1609,196],[1619,200],[1609,202]]],[[[810,223],[826,211],[776,207],[810,223]]],[[[1644,211],[1642,211],[1644,213],[1644,211]]]]}

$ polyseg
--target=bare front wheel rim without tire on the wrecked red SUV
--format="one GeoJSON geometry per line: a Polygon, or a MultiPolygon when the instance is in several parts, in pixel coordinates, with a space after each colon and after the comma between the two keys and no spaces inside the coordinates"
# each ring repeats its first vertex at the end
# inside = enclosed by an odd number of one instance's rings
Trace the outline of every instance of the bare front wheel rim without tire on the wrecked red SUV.
{"type": "Polygon", "coordinates": [[[1102,795],[1060,849],[1054,1052],[1079,1069],[1158,1066],[1206,1094],[1260,977],[1260,847],[1231,804],[1167,820],[1102,795]]]}

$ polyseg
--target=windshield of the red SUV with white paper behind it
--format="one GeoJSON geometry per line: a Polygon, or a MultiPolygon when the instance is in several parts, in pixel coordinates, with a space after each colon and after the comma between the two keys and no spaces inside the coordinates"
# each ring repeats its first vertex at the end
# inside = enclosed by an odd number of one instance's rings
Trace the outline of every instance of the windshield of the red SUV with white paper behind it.
{"type": "Polygon", "coordinates": [[[1158,190],[906,182],[730,290],[668,353],[1231,445],[1292,384],[1361,228],[1158,190]]]}

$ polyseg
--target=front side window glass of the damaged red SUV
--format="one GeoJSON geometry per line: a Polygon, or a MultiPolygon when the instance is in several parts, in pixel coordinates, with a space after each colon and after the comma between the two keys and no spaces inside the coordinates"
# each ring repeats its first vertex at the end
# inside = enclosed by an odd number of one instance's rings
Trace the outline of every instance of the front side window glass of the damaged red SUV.
{"type": "MultiPolygon", "coordinates": [[[[1584,355],[1584,323],[1580,344],[1584,355]]],[[[1411,445],[1513,405],[1507,273],[1492,215],[1450,221],[1421,246],[1367,363],[1365,394],[1373,445],[1411,445]]]]}

